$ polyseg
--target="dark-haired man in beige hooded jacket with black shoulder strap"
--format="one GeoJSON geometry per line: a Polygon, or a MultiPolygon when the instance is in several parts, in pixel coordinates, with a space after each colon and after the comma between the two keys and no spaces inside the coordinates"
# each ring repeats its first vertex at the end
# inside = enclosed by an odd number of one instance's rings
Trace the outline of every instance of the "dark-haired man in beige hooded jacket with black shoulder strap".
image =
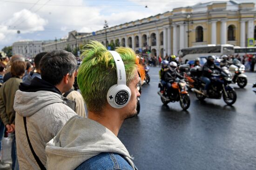
{"type": "Polygon", "coordinates": [[[13,106],[16,111],[15,135],[20,170],[44,169],[47,142],[54,138],[69,118],[77,115],[61,95],[74,83],[76,64],[72,53],[54,50],[40,61],[41,79],[34,77],[31,84],[20,84],[13,106]]]}

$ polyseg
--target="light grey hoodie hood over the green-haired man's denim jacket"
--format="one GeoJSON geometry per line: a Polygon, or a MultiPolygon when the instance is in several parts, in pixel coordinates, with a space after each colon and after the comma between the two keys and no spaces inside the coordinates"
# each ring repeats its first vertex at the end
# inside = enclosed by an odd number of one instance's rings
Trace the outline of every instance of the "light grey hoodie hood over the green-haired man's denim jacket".
{"type": "Polygon", "coordinates": [[[47,143],[47,170],[74,170],[102,152],[122,155],[135,170],[132,157],[113,132],[94,120],[73,116],[47,143]]]}

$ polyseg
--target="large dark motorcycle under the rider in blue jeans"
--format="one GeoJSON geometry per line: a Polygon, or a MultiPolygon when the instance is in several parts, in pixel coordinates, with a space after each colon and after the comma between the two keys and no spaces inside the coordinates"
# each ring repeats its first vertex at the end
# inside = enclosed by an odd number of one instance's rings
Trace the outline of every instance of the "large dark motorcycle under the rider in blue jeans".
{"type": "MultiPolygon", "coordinates": [[[[202,70],[197,70],[202,71],[202,70]]],[[[234,88],[230,87],[229,84],[232,82],[230,75],[226,74],[224,71],[217,71],[211,75],[211,84],[207,91],[207,94],[204,94],[202,90],[204,89],[205,83],[201,80],[200,77],[197,77],[194,82],[194,88],[191,90],[195,92],[195,96],[203,101],[205,98],[210,99],[221,99],[223,96],[223,100],[227,105],[232,105],[236,102],[236,91],[234,88]]]]}

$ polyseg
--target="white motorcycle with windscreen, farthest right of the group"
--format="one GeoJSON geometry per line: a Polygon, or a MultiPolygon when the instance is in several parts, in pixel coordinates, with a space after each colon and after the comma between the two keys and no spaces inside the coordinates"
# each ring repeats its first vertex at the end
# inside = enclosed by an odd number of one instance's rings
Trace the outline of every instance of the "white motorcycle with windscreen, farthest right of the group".
{"type": "Polygon", "coordinates": [[[243,74],[245,70],[243,64],[231,64],[229,69],[227,67],[222,67],[222,70],[233,77],[232,82],[237,84],[240,88],[244,88],[246,86],[247,76],[243,74]]]}

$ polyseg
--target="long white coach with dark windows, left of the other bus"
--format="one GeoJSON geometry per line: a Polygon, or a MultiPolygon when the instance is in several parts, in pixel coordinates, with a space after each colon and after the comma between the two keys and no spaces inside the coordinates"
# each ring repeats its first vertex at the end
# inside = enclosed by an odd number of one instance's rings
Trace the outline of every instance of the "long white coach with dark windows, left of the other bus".
{"type": "Polygon", "coordinates": [[[208,45],[198,45],[189,48],[184,48],[179,50],[179,56],[182,56],[182,61],[185,60],[194,60],[196,57],[201,56],[219,56],[222,55],[234,55],[234,45],[230,44],[222,44],[222,45],[215,45],[215,44],[208,44],[208,45]]]}

